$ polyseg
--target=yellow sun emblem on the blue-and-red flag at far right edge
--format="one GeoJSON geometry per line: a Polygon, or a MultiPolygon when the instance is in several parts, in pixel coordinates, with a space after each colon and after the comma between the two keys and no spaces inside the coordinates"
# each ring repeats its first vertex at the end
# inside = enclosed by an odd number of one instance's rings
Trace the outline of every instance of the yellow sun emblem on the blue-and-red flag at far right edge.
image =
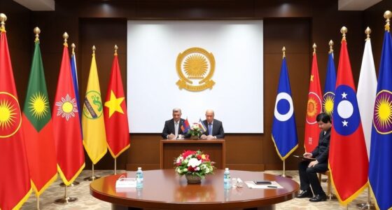
{"type": "Polygon", "coordinates": [[[379,134],[392,132],[392,93],[381,90],[374,103],[373,125],[379,134]]]}

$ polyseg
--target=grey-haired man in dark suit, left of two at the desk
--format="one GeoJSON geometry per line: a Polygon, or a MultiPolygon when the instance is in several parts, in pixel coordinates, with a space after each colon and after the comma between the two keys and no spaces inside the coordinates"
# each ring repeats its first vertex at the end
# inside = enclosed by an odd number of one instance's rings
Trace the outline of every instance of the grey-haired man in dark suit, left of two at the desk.
{"type": "MultiPolygon", "coordinates": [[[[173,109],[173,118],[165,121],[165,127],[163,127],[162,131],[163,139],[176,139],[179,137],[179,134],[184,135],[181,125],[183,125],[185,120],[181,118],[181,114],[181,109],[173,109]]],[[[187,135],[184,135],[184,137],[187,137],[187,135]]]]}

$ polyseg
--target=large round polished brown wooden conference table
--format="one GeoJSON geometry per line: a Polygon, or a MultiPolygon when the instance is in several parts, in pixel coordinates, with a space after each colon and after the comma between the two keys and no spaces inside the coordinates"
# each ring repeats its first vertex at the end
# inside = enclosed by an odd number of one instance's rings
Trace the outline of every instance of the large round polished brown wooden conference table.
{"type": "Polygon", "coordinates": [[[144,171],[143,188],[117,188],[120,176],[134,178],[136,172],[127,172],[96,179],[90,183],[90,194],[112,203],[112,209],[274,209],[274,204],[291,200],[300,186],[295,181],[262,172],[230,170],[232,178],[242,181],[276,181],[283,188],[251,189],[223,188],[222,169],[206,176],[201,184],[188,184],[174,169],[144,171]],[[131,209],[131,208],[130,208],[131,209]]]}

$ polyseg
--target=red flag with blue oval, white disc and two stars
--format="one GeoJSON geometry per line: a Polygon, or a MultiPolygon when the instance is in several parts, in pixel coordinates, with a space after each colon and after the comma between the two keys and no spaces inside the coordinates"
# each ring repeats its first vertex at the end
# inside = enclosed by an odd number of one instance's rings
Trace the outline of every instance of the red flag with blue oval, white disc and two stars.
{"type": "Polygon", "coordinates": [[[346,39],[342,39],[335,90],[329,153],[332,184],[341,204],[367,186],[368,160],[346,39]]]}

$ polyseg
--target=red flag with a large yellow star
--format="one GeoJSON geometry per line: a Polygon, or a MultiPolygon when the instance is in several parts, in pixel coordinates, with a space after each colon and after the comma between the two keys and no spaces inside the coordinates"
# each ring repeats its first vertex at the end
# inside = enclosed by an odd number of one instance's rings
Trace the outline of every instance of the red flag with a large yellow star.
{"type": "Polygon", "coordinates": [[[114,54],[111,67],[111,78],[104,106],[104,119],[109,151],[113,158],[117,158],[130,147],[127,105],[117,52],[114,54]]]}

